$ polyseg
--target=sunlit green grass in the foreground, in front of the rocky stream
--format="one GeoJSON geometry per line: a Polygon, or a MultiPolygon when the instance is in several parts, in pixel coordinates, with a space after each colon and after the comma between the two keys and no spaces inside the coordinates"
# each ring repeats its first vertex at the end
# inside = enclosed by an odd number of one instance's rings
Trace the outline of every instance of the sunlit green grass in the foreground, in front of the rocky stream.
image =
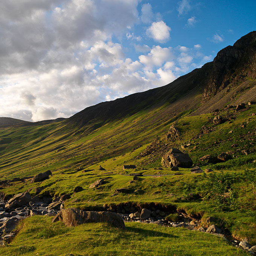
{"type": "Polygon", "coordinates": [[[49,217],[33,216],[22,222],[14,241],[0,247],[0,253],[5,256],[247,255],[222,238],[198,231],[136,222],[125,225],[126,230],[105,223],[67,228],[60,222],[51,223],[49,217]]]}

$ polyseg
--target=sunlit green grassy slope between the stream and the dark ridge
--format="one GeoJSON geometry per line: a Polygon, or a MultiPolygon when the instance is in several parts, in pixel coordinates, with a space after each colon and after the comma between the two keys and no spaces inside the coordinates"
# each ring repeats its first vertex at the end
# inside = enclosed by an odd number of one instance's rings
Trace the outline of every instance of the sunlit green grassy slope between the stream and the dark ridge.
{"type": "Polygon", "coordinates": [[[140,110],[120,120],[92,120],[85,127],[73,130],[68,125],[63,125],[63,122],[1,129],[1,180],[30,176],[48,169],[53,172],[53,176],[42,183],[14,182],[3,186],[1,192],[13,195],[29,190],[34,195],[35,187],[43,186],[40,196],[53,197],[72,193],[75,186],[82,186],[84,190],[66,201],[66,207],[95,209],[94,207],[102,207],[104,203],[118,204],[126,201],[171,204],[190,215],[201,213],[203,221],[207,216],[215,216],[219,219],[218,224],[227,227],[234,236],[249,237],[255,244],[256,163],[253,160],[256,159],[256,116],[251,114],[256,112],[256,107],[253,105],[250,110],[242,113],[235,113],[233,110],[216,113],[235,117],[232,123],[226,122],[218,126],[211,123],[214,113],[191,116],[191,111],[184,111],[166,118],[171,110],[169,105],[163,105],[140,110]],[[246,124],[246,127],[241,127],[242,124],[246,124]],[[166,139],[170,125],[175,125],[181,131],[180,138],[174,142],[166,139]],[[203,125],[211,130],[209,134],[202,133],[203,125]],[[229,133],[230,130],[233,133],[229,133]],[[163,151],[156,150],[145,157],[138,157],[156,136],[162,142],[161,146],[166,144],[163,150],[191,143],[183,151],[188,152],[194,163],[200,165],[203,163],[199,162],[199,158],[205,154],[218,155],[232,151],[233,158],[225,163],[203,165],[202,169],[212,168],[214,174],[190,174],[189,169],[181,169],[184,175],[146,177],[143,181],[129,184],[131,178],[120,174],[175,173],[166,168],[154,170],[161,167],[163,151]],[[234,143],[238,147],[232,148],[234,143]],[[142,146],[133,151],[138,145],[142,146]],[[253,152],[244,155],[241,153],[242,149],[253,152]],[[135,171],[122,171],[123,164],[136,164],[138,168],[135,171]],[[104,172],[97,171],[99,165],[113,172],[113,175],[102,176],[104,172]],[[93,171],[82,173],[81,170],[78,171],[79,167],[93,171]],[[98,190],[88,189],[91,183],[107,176],[111,179],[98,190]],[[143,189],[146,193],[118,194],[112,197],[114,189],[120,187],[143,189]],[[152,195],[155,191],[162,193],[152,195]],[[168,197],[170,193],[175,196],[168,197]],[[74,198],[78,202],[72,203],[74,198]]]}

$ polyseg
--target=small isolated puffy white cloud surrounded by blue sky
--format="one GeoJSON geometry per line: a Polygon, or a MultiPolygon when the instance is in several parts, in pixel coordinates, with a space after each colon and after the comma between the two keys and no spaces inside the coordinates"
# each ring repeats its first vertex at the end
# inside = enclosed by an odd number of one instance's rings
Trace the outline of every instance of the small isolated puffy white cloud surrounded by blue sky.
{"type": "Polygon", "coordinates": [[[146,34],[157,42],[165,43],[170,39],[170,31],[171,27],[168,27],[163,21],[158,21],[152,23],[146,30],[146,34]]]}

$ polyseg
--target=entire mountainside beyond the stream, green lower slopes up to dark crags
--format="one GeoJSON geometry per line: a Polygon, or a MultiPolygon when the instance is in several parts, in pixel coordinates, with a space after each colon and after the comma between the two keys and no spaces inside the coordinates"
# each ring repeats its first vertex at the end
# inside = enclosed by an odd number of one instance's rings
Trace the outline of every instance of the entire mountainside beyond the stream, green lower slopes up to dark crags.
{"type": "MultiPolygon", "coordinates": [[[[69,119],[0,128],[0,196],[9,200],[28,191],[37,200],[57,201],[72,195],[66,208],[127,216],[157,209],[171,223],[186,226],[183,222],[189,220],[197,228],[215,224],[230,240],[249,238],[256,245],[255,127],[253,31],[212,62],[163,87],[102,102],[69,119]],[[188,154],[202,171],[166,167],[172,148],[188,154]],[[48,171],[49,179],[31,183],[32,176],[48,171]],[[133,178],[133,173],[144,176],[133,178]],[[90,188],[95,181],[99,186],[90,188]],[[133,193],[125,194],[123,188],[133,193]]],[[[41,225],[40,216],[31,219],[41,225]]],[[[133,224],[134,232],[145,229],[133,224]]],[[[47,227],[41,233],[51,239],[51,232],[47,227]]],[[[191,233],[183,232],[190,241],[191,233]]]]}

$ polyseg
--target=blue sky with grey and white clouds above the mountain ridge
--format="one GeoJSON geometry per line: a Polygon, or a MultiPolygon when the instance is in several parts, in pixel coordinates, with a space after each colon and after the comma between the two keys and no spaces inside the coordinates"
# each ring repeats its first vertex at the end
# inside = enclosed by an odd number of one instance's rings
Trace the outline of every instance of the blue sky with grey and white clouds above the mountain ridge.
{"type": "Polygon", "coordinates": [[[255,0],[0,0],[0,117],[70,117],[160,87],[256,30],[255,0]]]}

